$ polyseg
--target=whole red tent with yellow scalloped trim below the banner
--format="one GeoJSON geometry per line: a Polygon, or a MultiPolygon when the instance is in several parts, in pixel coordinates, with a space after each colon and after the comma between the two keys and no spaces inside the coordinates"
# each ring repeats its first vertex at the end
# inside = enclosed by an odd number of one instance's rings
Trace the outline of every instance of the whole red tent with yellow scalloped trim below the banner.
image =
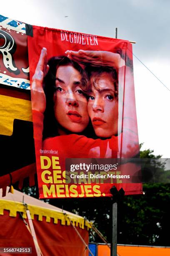
{"type": "Polygon", "coordinates": [[[26,210],[30,211],[37,243],[43,255],[88,255],[85,245],[88,244],[87,229],[91,227],[89,221],[17,190],[14,190],[14,194],[7,193],[2,197],[0,189],[0,247],[30,247],[32,255],[36,255],[35,243],[27,228],[28,223],[30,227],[32,224],[26,210]]]}

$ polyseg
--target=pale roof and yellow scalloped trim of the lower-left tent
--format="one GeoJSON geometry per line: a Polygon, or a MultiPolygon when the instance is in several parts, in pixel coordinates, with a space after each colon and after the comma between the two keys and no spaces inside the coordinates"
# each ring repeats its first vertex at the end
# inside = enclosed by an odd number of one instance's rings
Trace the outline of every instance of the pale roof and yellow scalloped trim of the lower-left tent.
{"type": "MultiPolygon", "coordinates": [[[[9,187],[7,189],[9,190],[9,187]]],[[[9,210],[11,217],[16,217],[17,212],[22,212],[23,217],[26,218],[27,208],[30,210],[32,220],[34,219],[34,215],[38,215],[38,220],[40,221],[44,216],[46,222],[50,222],[51,218],[53,218],[54,223],[58,223],[58,220],[60,220],[62,225],[70,225],[71,220],[73,225],[79,225],[82,229],[85,227],[87,229],[91,228],[90,222],[81,216],[47,204],[15,189],[14,194],[7,193],[5,197],[2,197],[2,189],[0,189],[0,215],[3,215],[4,210],[9,210]]]]}

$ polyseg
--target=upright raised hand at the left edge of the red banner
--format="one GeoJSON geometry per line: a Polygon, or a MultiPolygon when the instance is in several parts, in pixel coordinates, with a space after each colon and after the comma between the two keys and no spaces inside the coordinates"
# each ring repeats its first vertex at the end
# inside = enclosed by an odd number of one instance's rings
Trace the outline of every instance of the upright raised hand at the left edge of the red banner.
{"type": "Polygon", "coordinates": [[[44,113],[46,107],[45,93],[42,88],[43,78],[47,74],[49,66],[47,65],[47,49],[42,48],[40,59],[32,77],[31,100],[32,110],[44,113]]]}

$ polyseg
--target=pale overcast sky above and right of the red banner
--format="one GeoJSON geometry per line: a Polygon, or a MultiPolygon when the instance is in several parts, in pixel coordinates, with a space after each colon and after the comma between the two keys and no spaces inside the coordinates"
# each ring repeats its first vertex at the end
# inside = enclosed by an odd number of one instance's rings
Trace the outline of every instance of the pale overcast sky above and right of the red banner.
{"type": "MultiPolygon", "coordinates": [[[[8,0],[0,14],[32,25],[136,41],[133,52],[170,89],[169,0],[8,0]],[[68,17],[65,17],[68,16],[68,17]]],[[[170,158],[170,91],[134,57],[139,141],[170,158]]]]}

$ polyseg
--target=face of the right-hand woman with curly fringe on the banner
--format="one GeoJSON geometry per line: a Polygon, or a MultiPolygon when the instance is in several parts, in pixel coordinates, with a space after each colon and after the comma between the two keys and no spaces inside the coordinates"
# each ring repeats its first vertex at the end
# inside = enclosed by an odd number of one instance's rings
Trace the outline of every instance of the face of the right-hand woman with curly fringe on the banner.
{"type": "Polygon", "coordinates": [[[96,135],[103,138],[117,135],[118,100],[111,75],[103,72],[96,77],[93,74],[90,84],[92,92],[88,100],[88,114],[96,135]]]}

